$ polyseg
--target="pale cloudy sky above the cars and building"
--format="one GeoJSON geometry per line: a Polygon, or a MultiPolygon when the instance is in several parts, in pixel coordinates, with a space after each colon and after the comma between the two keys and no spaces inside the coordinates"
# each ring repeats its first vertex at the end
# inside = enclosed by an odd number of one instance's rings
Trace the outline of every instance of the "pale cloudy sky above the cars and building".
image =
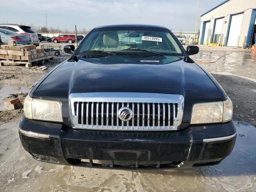
{"type": "MultiPolygon", "coordinates": [[[[224,0],[200,0],[200,15],[224,0]]],[[[194,31],[198,0],[0,0],[0,23],[60,29],[108,24],[154,24],[194,31]]],[[[198,24],[199,28],[199,24],[198,24]]]]}

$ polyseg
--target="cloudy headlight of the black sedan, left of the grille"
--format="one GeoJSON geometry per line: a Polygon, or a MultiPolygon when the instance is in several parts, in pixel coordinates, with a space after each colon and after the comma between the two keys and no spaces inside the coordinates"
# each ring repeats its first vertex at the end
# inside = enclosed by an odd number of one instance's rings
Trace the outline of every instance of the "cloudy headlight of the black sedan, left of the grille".
{"type": "Polygon", "coordinates": [[[32,98],[29,95],[24,100],[24,116],[28,119],[63,122],[59,101],[32,98]]]}

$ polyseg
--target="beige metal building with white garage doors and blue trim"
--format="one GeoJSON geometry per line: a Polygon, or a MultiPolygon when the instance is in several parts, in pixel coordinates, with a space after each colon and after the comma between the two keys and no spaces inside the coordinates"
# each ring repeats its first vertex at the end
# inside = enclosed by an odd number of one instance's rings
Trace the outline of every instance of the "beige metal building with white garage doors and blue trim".
{"type": "Polygon", "coordinates": [[[245,46],[255,42],[256,0],[226,0],[201,15],[200,44],[245,46]]]}

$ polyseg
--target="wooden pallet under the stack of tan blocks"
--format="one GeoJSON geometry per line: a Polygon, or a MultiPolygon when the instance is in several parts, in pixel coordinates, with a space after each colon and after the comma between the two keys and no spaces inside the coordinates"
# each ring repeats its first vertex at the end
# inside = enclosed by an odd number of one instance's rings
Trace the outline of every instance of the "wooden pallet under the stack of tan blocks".
{"type": "Polygon", "coordinates": [[[25,64],[26,67],[32,67],[34,62],[38,62],[39,64],[44,64],[44,60],[53,60],[54,56],[43,56],[40,58],[35,58],[31,60],[17,60],[17,59],[6,59],[6,58],[0,58],[0,66],[4,66],[4,64],[7,65],[19,65],[19,64],[25,64]]]}

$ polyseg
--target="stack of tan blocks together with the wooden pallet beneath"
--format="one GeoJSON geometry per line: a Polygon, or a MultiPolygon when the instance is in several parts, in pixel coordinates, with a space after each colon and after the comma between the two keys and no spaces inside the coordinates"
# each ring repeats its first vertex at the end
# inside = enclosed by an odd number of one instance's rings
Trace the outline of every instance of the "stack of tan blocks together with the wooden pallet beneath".
{"type": "Polygon", "coordinates": [[[8,45],[0,46],[0,61],[6,60],[17,64],[28,62],[32,65],[31,62],[48,59],[49,57],[53,57],[52,52],[36,49],[35,45],[16,45],[14,42],[8,42],[8,45]]]}

